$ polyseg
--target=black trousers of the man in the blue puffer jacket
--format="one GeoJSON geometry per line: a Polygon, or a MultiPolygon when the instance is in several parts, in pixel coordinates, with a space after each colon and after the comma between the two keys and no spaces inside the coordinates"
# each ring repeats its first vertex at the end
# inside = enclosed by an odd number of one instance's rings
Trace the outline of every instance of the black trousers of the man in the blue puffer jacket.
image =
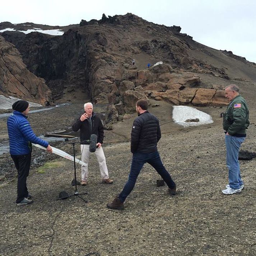
{"type": "Polygon", "coordinates": [[[16,169],[18,170],[17,200],[20,203],[28,196],[27,177],[31,163],[31,153],[26,155],[11,155],[16,169]]]}

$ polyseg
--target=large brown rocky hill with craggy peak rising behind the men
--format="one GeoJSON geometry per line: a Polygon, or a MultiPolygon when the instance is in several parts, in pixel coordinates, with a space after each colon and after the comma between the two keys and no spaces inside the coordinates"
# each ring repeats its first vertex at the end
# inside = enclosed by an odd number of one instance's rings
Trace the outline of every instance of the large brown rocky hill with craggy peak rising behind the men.
{"type": "MultiPolygon", "coordinates": [[[[1,29],[6,26],[10,24],[0,23],[1,29]]],[[[108,18],[103,14],[101,20],[58,28],[66,31],[63,36],[1,33],[17,47],[29,71],[46,80],[55,99],[69,88],[84,89],[94,102],[121,104],[121,114],[129,113],[129,104],[144,96],[173,104],[226,104],[221,90],[226,83],[256,82],[255,63],[201,45],[180,33],[180,27],[130,13],[108,18]],[[164,65],[147,69],[148,63],[158,61],[164,65]]]]}

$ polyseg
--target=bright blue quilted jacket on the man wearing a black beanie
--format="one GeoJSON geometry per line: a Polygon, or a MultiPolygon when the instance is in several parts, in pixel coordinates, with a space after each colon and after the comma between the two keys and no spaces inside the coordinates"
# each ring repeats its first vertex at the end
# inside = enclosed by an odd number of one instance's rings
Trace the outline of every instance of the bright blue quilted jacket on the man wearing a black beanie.
{"type": "Polygon", "coordinates": [[[31,143],[39,144],[45,148],[49,143],[45,140],[38,138],[27,120],[18,111],[13,111],[13,114],[7,120],[7,128],[10,142],[11,155],[25,155],[29,154],[32,150],[31,143]]]}

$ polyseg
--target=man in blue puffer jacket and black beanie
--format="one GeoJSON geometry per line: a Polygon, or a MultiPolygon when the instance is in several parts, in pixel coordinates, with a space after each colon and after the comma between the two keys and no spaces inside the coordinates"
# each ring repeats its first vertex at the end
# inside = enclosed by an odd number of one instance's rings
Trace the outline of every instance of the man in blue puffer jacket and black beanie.
{"type": "Polygon", "coordinates": [[[27,120],[29,103],[27,101],[16,101],[12,107],[13,115],[7,120],[7,128],[10,155],[18,170],[16,204],[19,206],[33,203],[33,200],[29,200],[31,195],[28,193],[27,188],[27,177],[31,163],[31,143],[44,146],[48,152],[52,152],[52,148],[47,141],[38,138],[31,129],[27,120]]]}

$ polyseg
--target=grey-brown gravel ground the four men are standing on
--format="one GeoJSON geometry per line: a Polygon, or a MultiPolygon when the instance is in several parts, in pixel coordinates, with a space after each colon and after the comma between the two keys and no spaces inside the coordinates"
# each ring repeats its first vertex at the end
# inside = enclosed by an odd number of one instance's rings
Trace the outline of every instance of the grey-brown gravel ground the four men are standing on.
{"type": "MultiPolygon", "coordinates": [[[[171,115],[166,114],[169,109],[161,102],[150,111],[164,124],[171,121],[171,115]]],[[[78,186],[79,192],[88,192],[83,196],[88,203],[77,196],[56,201],[60,191],[74,194],[70,185],[74,167],[72,162],[55,156],[52,159],[61,161],[62,167],[43,174],[31,170],[28,188],[34,199],[32,205],[15,205],[15,178],[0,186],[0,255],[256,255],[255,159],[240,161],[245,181],[242,193],[223,195],[221,190],[228,181],[219,118],[223,110],[199,109],[209,113],[214,123],[191,128],[174,123],[161,126],[158,149],[177,184],[176,196],[167,194],[167,186],[156,186],[159,176],[146,164],[127,197],[125,210],[106,208],[124,186],[131,164],[130,143],[126,141],[132,120],[119,122],[112,131],[106,131],[103,145],[114,183],[100,183],[97,159],[92,155],[88,185],[78,186]]],[[[80,113],[75,104],[54,111],[29,116],[38,134],[66,129],[74,121],[68,113],[80,113]]],[[[4,122],[0,121],[0,126],[4,128],[4,122]]],[[[255,134],[253,123],[242,149],[255,151],[255,134]]],[[[68,151],[69,145],[63,148],[68,151]]]]}

